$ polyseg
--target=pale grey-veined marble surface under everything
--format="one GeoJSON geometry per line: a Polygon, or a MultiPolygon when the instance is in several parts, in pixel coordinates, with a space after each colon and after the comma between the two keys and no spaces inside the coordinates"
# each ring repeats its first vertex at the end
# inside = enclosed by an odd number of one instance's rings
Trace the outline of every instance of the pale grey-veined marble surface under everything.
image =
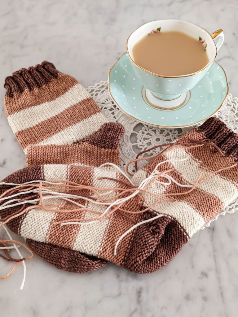
{"type": "MultiPolygon", "coordinates": [[[[236,0],[4,1],[0,11],[0,178],[25,165],[4,112],[5,76],[43,60],[85,87],[105,80],[126,50],[128,35],[150,20],[178,18],[209,32],[223,29],[217,61],[229,91],[238,95],[236,0]]],[[[77,275],[35,256],[0,281],[1,316],[17,317],[236,317],[238,315],[238,214],[219,217],[195,234],[166,267],[136,275],[109,264],[77,275]]],[[[2,234],[3,231],[0,231],[2,234]]],[[[15,236],[16,237],[16,236],[15,236]]],[[[18,238],[18,237],[17,237],[18,238]]],[[[0,261],[0,275],[10,265],[0,261]]]]}

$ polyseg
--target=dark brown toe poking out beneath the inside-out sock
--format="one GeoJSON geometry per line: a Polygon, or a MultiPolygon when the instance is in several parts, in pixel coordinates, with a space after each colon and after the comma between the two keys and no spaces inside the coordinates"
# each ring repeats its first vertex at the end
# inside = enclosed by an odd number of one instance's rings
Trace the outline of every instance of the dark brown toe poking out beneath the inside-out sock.
{"type": "Polygon", "coordinates": [[[103,268],[108,263],[106,260],[50,243],[36,242],[31,239],[26,239],[26,243],[43,260],[68,272],[88,273],[103,268]]]}

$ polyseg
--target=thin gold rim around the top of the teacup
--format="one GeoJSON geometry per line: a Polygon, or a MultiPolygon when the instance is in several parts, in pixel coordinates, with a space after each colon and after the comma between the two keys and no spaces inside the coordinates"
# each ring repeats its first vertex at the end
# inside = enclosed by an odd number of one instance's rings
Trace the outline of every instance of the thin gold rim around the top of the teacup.
{"type": "MultiPolygon", "coordinates": [[[[165,20],[166,20],[166,19],[165,19],[165,20]]],[[[170,19],[167,19],[167,20],[170,20],[170,19]]],[[[200,29],[203,29],[203,28],[201,28],[201,26],[198,26],[198,25],[196,25],[196,24],[194,24],[194,23],[191,23],[191,22],[188,22],[188,21],[178,20],[178,19],[171,19],[171,20],[177,20],[177,21],[187,22],[187,23],[190,23],[190,24],[193,24],[193,25],[199,27],[200,29]]],[[[190,77],[190,76],[193,76],[193,75],[195,75],[195,74],[201,73],[203,70],[205,70],[206,68],[208,68],[208,66],[210,66],[211,63],[215,60],[216,55],[217,55],[217,47],[216,47],[216,44],[214,43],[214,44],[215,44],[215,49],[216,49],[216,53],[215,53],[214,59],[211,60],[205,67],[203,67],[202,69],[198,70],[197,72],[195,72],[195,73],[193,73],[193,74],[180,75],[180,76],[164,76],[164,75],[158,75],[158,74],[152,73],[152,72],[150,72],[149,70],[147,70],[147,69],[141,67],[141,66],[138,65],[135,61],[133,61],[132,57],[131,57],[130,54],[129,54],[129,51],[128,51],[128,40],[129,40],[130,36],[131,36],[137,29],[139,29],[141,26],[143,26],[143,25],[145,25],[145,24],[147,24],[147,23],[150,23],[150,22],[155,22],[155,21],[157,21],[157,20],[149,21],[149,22],[143,23],[142,25],[138,26],[138,28],[136,28],[133,32],[131,32],[131,34],[130,34],[130,35],[128,36],[128,38],[127,38],[127,41],[126,41],[127,54],[128,54],[128,57],[129,57],[130,61],[131,61],[136,67],[142,69],[142,70],[145,71],[146,73],[152,74],[152,75],[157,76],[157,77],[163,77],[163,78],[181,78],[181,77],[190,77]]],[[[161,20],[161,21],[163,21],[163,20],[161,20]]],[[[211,36],[211,35],[209,34],[209,32],[208,32],[206,29],[203,29],[203,30],[206,31],[209,36],[211,36]]],[[[220,31],[220,30],[215,31],[212,35],[214,35],[214,34],[215,34],[216,32],[218,32],[218,31],[220,31]]],[[[221,30],[221,31],[222,31],[222,30],[221,30]]],[[[221,33],[221,32],[220,32],[220,33],[221,33]]],[[[219,33],[219,34],[220,34],[220,33],[219,33]]],[[[211,36],[211,37],[212,37],[212,36],[211,36]]],[[[213,37],[212,37],[212,39],[213,39],[213,37]]]]}

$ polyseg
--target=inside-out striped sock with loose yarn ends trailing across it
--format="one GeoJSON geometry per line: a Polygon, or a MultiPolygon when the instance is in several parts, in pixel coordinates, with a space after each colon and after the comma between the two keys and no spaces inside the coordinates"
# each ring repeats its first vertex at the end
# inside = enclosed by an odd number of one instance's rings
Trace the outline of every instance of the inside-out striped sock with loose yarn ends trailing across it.
{"type": "MultiPolygon", "coordinates": [[[[115,133],[117,145],[120,136],[115,133]]],[[[1,221],[30,246],[39,243],[40,255],[40,246],[57,246],[151,273],[237,199],[237,156],[238,136],[210,118],[153,155],[131,179],[116,164],[101,165],[101,157],[90,161],[90,150],[87,162],[83,152],[77,162],[70,154],[65,164],[31,165],[29,159],[1,184],[1,221]],[[11,206],[13,195],[18,199],[11,206]]],[[[60,267],[54,256],[47,251],[42,257],[60,267]]]]}

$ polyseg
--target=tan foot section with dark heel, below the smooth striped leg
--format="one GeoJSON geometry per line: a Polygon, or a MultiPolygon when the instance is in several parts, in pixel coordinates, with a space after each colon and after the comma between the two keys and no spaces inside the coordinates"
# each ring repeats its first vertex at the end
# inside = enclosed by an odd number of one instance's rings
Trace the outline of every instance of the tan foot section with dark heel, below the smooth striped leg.
{"type": "Polygon", "coordinates": [[[75,144],[30,145],[27,148],[26,166],[72,163],[99,166],[106,162],[119,166],[119,142],[123,133],[121,124],[108,122],[75,144]]]}

